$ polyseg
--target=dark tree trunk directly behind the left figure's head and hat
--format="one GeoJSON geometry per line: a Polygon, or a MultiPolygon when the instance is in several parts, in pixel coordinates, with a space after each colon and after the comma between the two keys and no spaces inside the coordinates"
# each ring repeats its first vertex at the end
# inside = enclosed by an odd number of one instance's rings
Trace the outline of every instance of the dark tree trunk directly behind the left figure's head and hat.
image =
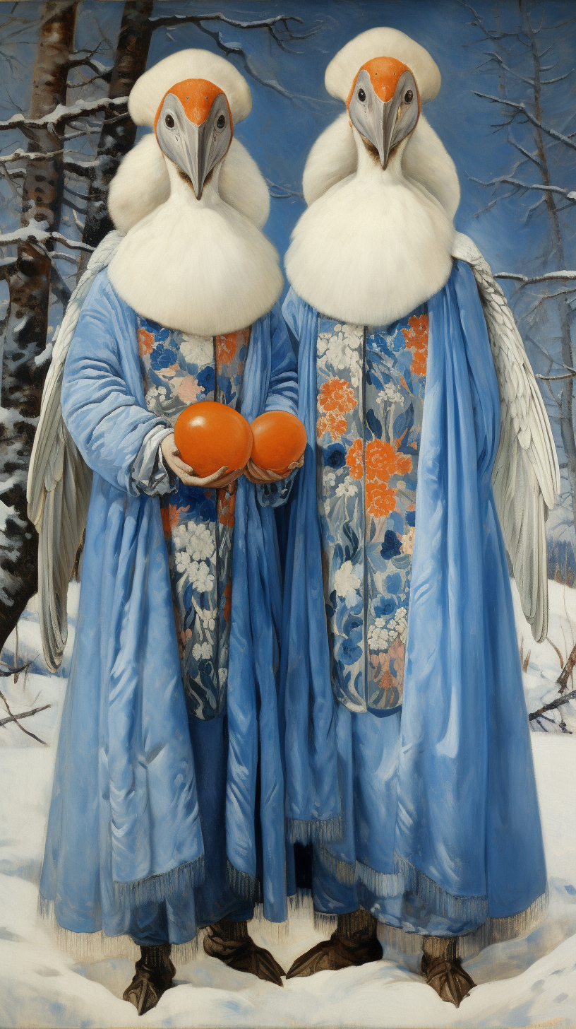
{"type": "MultiPolygon", "coordinates": [[[[125,97],[136,79],[146,70],[152,28],[150,15],[153,0],[127,0],[116,44],[116,58],[108,96],[111,99],[125,97]]],[[[134,146],[136,126],[130,115],[118,116],[114,109],[104,118],[98,144],[99,163],[91,180],[86,220],[82,241],[92,247],[98,246],[106,233],[113,227],[108,216],[108,186],[124,153],[134,146]]],[[[80,256],[80,272],[83,272],[89,255],[80,256]]]]}

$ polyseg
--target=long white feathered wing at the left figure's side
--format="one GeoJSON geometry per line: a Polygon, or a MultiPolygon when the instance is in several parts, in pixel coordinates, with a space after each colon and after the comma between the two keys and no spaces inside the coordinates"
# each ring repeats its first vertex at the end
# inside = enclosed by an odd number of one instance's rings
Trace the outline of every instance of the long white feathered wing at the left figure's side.
{"type": "Polygon", "coordinates": [[[62,418],[60,394],[68,348],[95,277],[111,260],[121,236],[109,233],[72,293],[53,343],[28,472],[28,517],[38,531],[38,610],[44,659],[56,672],[68,637],[66,600],[86,524],[92,471],[62,418]]]}

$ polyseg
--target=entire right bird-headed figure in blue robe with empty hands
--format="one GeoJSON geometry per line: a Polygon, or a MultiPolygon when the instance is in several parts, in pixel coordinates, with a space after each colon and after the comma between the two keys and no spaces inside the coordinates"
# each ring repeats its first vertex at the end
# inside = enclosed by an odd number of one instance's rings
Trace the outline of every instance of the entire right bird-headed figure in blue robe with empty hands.
{"type": "Polygon", "coordinates": [[[283,688],[289,830],[337,927],[288,974],[377,960],[380,926],[422,937],[458,1005],[462,958],[545,903],[506,549],[541,640],[557,459],[504,294],[454,227],[458,176],[422,113],[435,62],[371,29],[325,81],[347,109],[311,150],[286,254],[311,447],[283,688]]]}

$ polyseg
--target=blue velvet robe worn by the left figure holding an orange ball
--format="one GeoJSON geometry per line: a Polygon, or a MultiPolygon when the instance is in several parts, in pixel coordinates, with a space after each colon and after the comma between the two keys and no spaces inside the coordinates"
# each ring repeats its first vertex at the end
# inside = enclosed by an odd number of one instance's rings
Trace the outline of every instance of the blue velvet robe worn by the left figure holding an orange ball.
{"type": "MultiPolygon", "coordinates": [[[[296,400],[277,307],[252,326],[241,411],[252,421],[264,410],[294,412],[296,400]]],[[[105,271],[80,313],[62,405],[94,481],[41,898],[74,932],[180,944],[193,938],[196,921],[224,917],[230,906],[245,916],[260,881],[264,916],[282,921],[274,498],[239,480],[226,732],[219,725],[217,741],[195,741],[204,768],[196,785],[156,495],[163,476],[146,457],[147,441],[157,454],[171,427],[146,407],[137,315],[105,271]]]]}

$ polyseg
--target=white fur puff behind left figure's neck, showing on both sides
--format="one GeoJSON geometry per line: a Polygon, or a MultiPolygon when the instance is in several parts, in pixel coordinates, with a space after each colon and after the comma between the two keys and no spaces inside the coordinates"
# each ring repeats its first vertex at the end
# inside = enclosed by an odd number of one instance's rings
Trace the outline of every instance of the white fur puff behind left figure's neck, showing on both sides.
{"type": "MultiPolygon", "coordinates": [[[[233,138],[222,162],[218,192],[258,228],[263,227],[269,213],[268,187],[256,162],[233,138]]],[[[169,197],[168,165],[156,137],[149,133],[129,150],[110,183],[110,217],[120,233],[128,233],[169,197]]]]}

